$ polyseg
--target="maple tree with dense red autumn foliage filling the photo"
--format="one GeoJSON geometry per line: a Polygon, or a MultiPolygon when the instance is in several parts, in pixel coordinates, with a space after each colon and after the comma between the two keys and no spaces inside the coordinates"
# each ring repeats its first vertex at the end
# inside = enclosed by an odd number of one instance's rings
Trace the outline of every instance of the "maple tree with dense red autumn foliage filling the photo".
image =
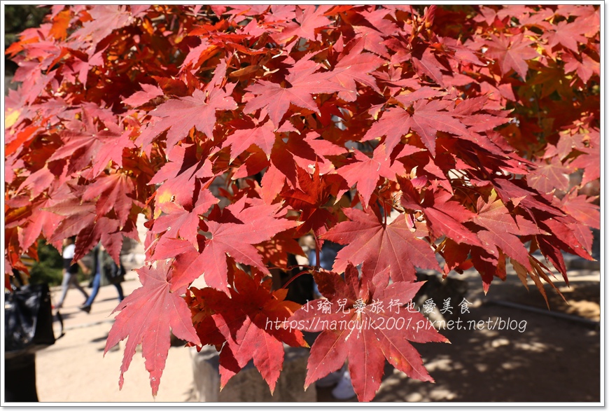
{"type": "Polygon", "coordinates": [[[171,331],[220,351],[222,386],[253,360],[273,391],[311,330],[305,384],[347,358],[372,400],[385,359],[432,380],[408,341],[435,330],[363,327],[423,320],[405,314],[416,268],[473,267],[489,291],[509,263],[545,297],[563,252],[591,259],[598,7],[55,5],[6,53],[5,280],[40,237],[118,260],[146,216],[142,286],[106,344],[127,339],[120,386],[141,344],[158,391],[171,331]],[[309,234],[346,247],[305,270],[325,299],[301,307],[269,274],[309,234]],[[374,309],[391,301],[402,314],[374,309]]]}

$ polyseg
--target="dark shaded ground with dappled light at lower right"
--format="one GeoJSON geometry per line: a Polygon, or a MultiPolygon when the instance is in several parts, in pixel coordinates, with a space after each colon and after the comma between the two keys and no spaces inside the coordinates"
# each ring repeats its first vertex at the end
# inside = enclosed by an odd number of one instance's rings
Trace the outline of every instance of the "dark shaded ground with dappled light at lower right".
{"type": "MultiPolygon", "coordinates": [[[[468,282],[469,313],[456,313],[462,328],[440,330],[451,344],[413,344],[435,384],[420,382],[385,367],[374,402],[598,402],[601,399],[601,340],[598,328],[556,318],[528,307],[598,321],[600,275],[574,272],[570,286],[556,281],[564,295],[546,286],[551,310],[535,286],[529,291],[508,276],[487,295],[479,277],[468,282]],[[492,302],[505,301],[523,308],[492,302]],[[490,320],[490,321],[489,321],[490,320]],[[482,322],[481,322],[482,321],[482,322]],[[498,329],[500,321],[504,325],[498,329]],[[479,326],[484,323],[484,326],[479,326]],[[510,323],[511,326],[507,326],[510,323]],[[472,328],[470,328],[472,324],[472,328]],[[489,329],[494,326],[494,329],[489,329]],[[511,329],[510,329],[511,328],[511,329]]],[[[500,281],[497,281],[500,283],[500,281]]],[[[318,389],[319,401],[337,400],[318,389]]],[[[355,399],[351,399],[355,400],[355,399]]],[[[351,401],[349,400],[349,401],[351,401]]]]}

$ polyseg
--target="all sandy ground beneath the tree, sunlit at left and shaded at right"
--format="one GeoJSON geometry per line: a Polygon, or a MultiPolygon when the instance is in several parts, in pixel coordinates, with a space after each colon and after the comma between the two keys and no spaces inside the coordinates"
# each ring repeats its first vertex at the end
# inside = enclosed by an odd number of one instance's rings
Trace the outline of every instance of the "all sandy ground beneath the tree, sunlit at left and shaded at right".
{"type": "MultiPolygon", "coordinates": [[[[442,330],[451,344],[417,344],[435,384],[409,379],[391,367],[375,401],[421,402],[598,402],[601,400],[600,332],[589,324],[538,312],[493,304],[510,301],[545,309],[538,291],[526,289],[515,276],[505,284],[493,284],[489,295],[480,293],[479,277],[465,274],[470,284],[468,301],[474,305],[463,321],[491,319],[526,321],[519,330],[442,330]],[[475,291],[475,292],[474,292],[475,291]]],[[[570,272],[571,285],[556,284],[568,300],[549,292],[552,312],[600,319],[600,272],[570,272]]],[[[130,272],[123,283],[125,294],[139,287],[130,272]]],[[[59,290],[53,291],[57,300],[59,290]]],[[[193,401],[193,366],[183,347],[169,349],[167,367],[158,396],[153,398],[137,351],[118,389],[120,348],[103,356],[112,325],[112,309],[118,303],[113,286],[102,287],[92,312],[78,310],[83,296],[70,290],[64,302],[66,335],[36,357],[38,396],[46,403],[183,403],[193,401]]],[[[545,309],[547,311],[547,309],[545,309]]],[[[513,323],[513,321],[512,321],[513,323]]],[[[330,389],[319,389],[318,400],[332,401],[330,389]]]]}

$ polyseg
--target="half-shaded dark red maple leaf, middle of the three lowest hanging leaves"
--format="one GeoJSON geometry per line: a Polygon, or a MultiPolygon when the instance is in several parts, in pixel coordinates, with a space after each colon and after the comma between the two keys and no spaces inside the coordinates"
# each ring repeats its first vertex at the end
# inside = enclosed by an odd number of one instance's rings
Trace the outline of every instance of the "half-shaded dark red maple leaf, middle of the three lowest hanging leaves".
{"type": "Polygon", "coordinates": [[[308,347],[300,330],[280,326],[300,304],[285,300],[286,289],[271,291],[270,278],[260,281],[260,275],[251,277],[241,270],[234,277],[230,298],[192,289],[195,302],[203,309],[203,315],[195,317],[195,328],[204,344],[221,341],[220,335],[226,341],[220,353],[221,388],[253,360],[273,393],[283,368],[282,341],[292,347],[308,347]]]}

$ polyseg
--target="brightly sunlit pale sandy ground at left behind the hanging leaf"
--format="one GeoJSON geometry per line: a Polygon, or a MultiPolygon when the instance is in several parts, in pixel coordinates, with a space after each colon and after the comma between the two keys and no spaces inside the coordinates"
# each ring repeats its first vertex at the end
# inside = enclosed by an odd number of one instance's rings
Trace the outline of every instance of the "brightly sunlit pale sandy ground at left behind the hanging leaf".
{"type": "MultiPolygon", "coordinates": [[[[129,295],[140,286],[134,272],[127,274],[123,291],[129,295]]],[[[90,288],[88,289],[90,290],[90,288]]],[[[53,292],[54,300],[59,289],[53,292]]],[[[153,398],[141,351],[137,351],[118,387],[125,342],[104,356],[106,337],[113,323],[110,315],[118,304],[114,286],[100,288],[90,314],[78,309],[83,295],[68,292],[64,307],[66,334],[55,345],[36,354],[38,398],[41,402],[184,402],[192,398],[193,370],[188,349],[171,347],[156,398],[153,398]]],[[[58,329],[58,328],[57,328],[58,329]]]]}

